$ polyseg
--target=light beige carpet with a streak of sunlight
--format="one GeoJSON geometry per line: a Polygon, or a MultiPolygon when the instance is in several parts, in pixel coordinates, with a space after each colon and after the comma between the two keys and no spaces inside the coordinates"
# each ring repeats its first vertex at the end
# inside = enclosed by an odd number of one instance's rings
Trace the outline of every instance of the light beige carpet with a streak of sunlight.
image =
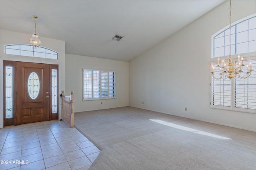
{"type": "Polygon", "coordinates": [[[102,150],[91,170],[256,170],[252,131],[134,107],[75,113],[75,127],[102,150]]]}

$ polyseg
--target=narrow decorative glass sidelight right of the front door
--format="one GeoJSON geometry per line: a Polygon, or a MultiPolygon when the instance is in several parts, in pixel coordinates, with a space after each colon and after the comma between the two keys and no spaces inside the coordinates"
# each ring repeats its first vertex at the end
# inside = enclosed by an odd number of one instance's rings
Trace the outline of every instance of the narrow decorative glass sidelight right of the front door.
{"type": "Polygon", "coordinates": [[[52,69],[52,113],[58,113],[58,70],[52,69]]]}

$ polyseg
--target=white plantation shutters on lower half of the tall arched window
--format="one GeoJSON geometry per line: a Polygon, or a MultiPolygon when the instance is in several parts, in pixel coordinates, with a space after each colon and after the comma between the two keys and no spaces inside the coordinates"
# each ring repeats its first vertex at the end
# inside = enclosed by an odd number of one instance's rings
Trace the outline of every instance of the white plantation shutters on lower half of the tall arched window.
{"type": "MultiPolygon", "coordinates": [[[[252,74],[245,79],[219,79],[212,78],[211,82],[211,106],[221,109],[222,106],[226,106],[225,109],[231,109],[236,111],[244,111],[250,113],[256,113],[256,57],[252,57],[251,60],[244,61],[244,68],[241,75],[246,76],[247,65],[250,69],[250,63],[252,65],[252,74]]],[[[218,67],[214,64],[214,72],[217,77],[218,67]]],[[[224,107],[223,107],[224,109],[224,107]]]]}

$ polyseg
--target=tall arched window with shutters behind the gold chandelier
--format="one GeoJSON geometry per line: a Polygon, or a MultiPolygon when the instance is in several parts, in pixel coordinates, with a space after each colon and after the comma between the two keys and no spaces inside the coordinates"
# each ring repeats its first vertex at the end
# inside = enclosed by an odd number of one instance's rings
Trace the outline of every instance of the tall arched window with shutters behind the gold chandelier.
{"type": "MultiPolygon", "coordinates": [[[[225,27],[212,35],[212,59],[214,72],[220,74],[218,58],[227,60],[230,52],[232,61],[238,62],[237,55],[244,58],[244,64],[252,64],[252,74],[246,79],[219,79],[211,76],[211,107],[256,113],[256,14],[236,21],[230,29],[225,27]]],[[[242,73],[246,72],[246,66],[242,73]]],[[[218,77],[218,75],[216,75],[218,77]]]]}

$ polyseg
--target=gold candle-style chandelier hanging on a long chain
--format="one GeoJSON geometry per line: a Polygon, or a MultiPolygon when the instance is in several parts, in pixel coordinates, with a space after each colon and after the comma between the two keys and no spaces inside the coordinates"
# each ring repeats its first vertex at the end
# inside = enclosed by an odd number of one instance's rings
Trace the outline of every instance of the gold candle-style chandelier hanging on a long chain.
{"type": "Polygon", "coordinates": [[[241,79],[245,79],[247,77],[249,77],[252,73],[252,63],[250,63],[250,69],[248,68],[248,65],[246,65],[247,67],[247,72],[245,72],[245,76],[241,76],[241,72],[243,72],[243,68],[245,66],[243,58],[241,58],[241,62],[240,62],[240,55],[238,55],[238,64],[234,61],[231,60],[231,0],[230,0],[230,8],[229,8],[229,59],[228,59],[228,63],[226,63],[224,60],[222,60],[222,64],[220,64],[220,58],[218,58],[218,70],[220,71],[220,76],[219,77],[215,77],[214,74],[214,64],[211,65],[212,68],[212,72],[210,72],[210,74],[212,74],[212,77],[216,80],[219,79],[226,79],[226,78],[241,78],[241,79]]]}

